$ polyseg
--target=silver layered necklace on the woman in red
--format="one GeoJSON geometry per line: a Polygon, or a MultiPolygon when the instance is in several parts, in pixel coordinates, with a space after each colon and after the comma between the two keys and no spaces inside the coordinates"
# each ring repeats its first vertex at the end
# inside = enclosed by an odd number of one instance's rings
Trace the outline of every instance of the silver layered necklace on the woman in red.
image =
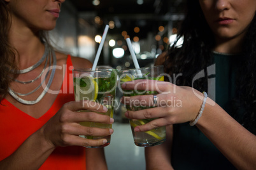
{"type": "Polygon", "coordinates": [[[32,65],[31,67],[28,67],[27,69],[23,69],[23,70],[18,70],[18,74],[25,74],[27,72],[30,72],[31,70],[36,69],[39,65],[41,65],[41,63],[43,63],[43,61],[45,61],[45,65],[43,67],[42,72],[35,78],[32,79],[31,81],[18,81],[17,79],[15,79],[16,82],[20,83],[20,84],[29,84],[32,82],[35,82],[37,79],[39,79],[39,77],[41,77],[41,75],[43,75],[43,72],[45,72],[46,69],[46,65],[49,61],[49,67],[47,69],[47,72],[45,74],[45,77],[43,80],[41,80],[41,83],[35,88],[32,89],[32,91],[29,91],[29,93],[18,93],[17,91],[13,91],[13,89],[8,88],[8,93],[13,96],[13,98],[15,98],[17,101],[19,101],[22,104],[25,105],[34,105],[36,103],[38,103],[43,96],[45,96],[45,94],[47,93],[47,91],[49,90],[51,84],[52,84],[52,80],[55,74],[55,67],[56,67],[56,55],[54,50],[48,46],[48,44],[45,44],[45,52],[42,56],[42,58],[34,65],[32,65]],[[46,60],[46,61],[45,61],[46,60]],[[32,93],[34,93],[35,91],[37,91],[39,88],[41,88],[42,84],[46,81],[46,77],[48,76],[49,72],[50,72],[50,67],[52,67],[52,72],[50,74],[50,78],[48,83],[46,84],[46,87],[43,88],[42,93],[38,96],[38,98],[36,98],[36,100],[24,100],[22,98],[20,98],[20,96],[28,96],[31,95],[32,93]]]}

